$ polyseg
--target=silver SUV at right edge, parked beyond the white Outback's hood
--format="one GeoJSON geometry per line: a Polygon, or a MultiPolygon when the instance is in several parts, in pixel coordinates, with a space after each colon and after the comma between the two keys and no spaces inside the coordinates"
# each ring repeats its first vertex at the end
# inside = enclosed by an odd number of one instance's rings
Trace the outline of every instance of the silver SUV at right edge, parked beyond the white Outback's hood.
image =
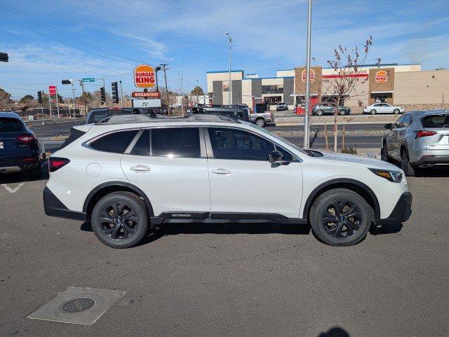
{"type": "Polygon", "coordinates": [[[382,160],[401,162],[407,176],[435,165],[449,166],[449,111],[410,111],[385,125],[382,160]]]}

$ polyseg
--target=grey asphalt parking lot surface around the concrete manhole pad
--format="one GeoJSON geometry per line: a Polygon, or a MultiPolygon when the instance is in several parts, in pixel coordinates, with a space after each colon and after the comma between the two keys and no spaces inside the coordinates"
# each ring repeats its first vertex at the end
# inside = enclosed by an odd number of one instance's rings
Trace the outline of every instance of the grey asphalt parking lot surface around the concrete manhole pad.
{"type": "Polygon", "coordinates": [[[0,336],[449,334],[448,172],[408,179],[410,220],[354,247],[305,226],[182,223],[111,249],[45,216],[44,178],[0,179],[0,336]],[[68,287],[125,294],[93,325],[27,318],[68,287]]]}

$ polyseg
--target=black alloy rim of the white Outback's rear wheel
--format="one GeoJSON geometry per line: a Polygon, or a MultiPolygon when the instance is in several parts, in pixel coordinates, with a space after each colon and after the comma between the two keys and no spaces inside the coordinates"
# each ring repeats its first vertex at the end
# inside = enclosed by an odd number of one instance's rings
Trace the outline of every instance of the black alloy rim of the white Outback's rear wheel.
{"type": "Polygon", "coordinates": [[[112,240],[126,240],[138,230],[139,217],[125,202],[112,202],[103,209],[100,224],[103,233],[112,240]]]}

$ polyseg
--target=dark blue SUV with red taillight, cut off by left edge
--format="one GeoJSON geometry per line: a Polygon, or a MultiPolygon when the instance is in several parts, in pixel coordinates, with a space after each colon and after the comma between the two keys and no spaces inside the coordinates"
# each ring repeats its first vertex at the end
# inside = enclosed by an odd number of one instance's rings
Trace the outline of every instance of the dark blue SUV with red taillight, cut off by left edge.
{"type": "Polygon", "coordinates": [[[41,151],[32,130],[13,112],[0,112],[0,173],[29,171],[41,177],[41,151]]]}

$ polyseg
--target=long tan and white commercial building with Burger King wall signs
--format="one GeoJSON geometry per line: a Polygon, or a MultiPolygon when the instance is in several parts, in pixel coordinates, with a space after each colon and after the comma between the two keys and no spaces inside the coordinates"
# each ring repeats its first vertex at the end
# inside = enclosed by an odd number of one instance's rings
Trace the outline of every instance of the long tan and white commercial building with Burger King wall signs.
{"type": "MultiPolygon", "coordinates": [[[[281,69],[275,77],[258,77],[243,70],[232,71],[232,104],[264,102],[274,109],[278,102],[290,108],[304,103],[305,69],[281,69]]],[[[229,104],[229,71],[207,71],[208,95],[213,104],[229,104]]],[[[337,83],[351,78],[352,90],[339,95],[341,104],[361,107],[375,102],[434,109],[448,105],[449,71],[422,70],[421,64],[367,64],[357,71],[311,68],[311,103],[337,97],[337,83]]]]}

